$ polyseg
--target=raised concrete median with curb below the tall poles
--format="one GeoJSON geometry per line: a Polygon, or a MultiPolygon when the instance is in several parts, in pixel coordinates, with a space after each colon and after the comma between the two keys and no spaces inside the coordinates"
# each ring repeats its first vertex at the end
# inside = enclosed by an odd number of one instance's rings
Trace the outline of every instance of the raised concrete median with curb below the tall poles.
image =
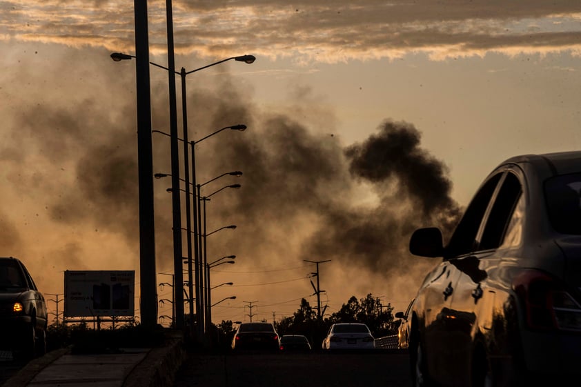
{"type": "Polygon", "coordinates": [[[119,353],[73,354],[54,350],[30,361],[2,387],[170,387],[186,358],[183,337],[164,346],[119,348],[119,353]]]}

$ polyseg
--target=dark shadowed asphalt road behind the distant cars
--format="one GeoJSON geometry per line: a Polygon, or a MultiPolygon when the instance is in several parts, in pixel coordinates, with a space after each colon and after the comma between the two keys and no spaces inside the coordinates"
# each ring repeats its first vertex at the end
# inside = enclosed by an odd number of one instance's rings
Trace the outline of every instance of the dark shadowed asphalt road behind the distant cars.
{"type": "Polygon", "coordinates": [[[190,354],[174,387],[410,387],[405,350],[190,354]]]}

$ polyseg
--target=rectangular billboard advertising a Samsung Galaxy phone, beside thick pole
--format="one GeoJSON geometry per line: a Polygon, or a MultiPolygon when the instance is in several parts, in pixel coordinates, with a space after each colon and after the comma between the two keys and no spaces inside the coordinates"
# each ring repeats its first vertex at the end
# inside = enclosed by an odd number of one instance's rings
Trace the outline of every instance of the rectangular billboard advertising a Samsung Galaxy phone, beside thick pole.
{"type": "Polygon", "coordinates": [[[66,270],[64,317],[135,315],[135,270],[66,270]]]}

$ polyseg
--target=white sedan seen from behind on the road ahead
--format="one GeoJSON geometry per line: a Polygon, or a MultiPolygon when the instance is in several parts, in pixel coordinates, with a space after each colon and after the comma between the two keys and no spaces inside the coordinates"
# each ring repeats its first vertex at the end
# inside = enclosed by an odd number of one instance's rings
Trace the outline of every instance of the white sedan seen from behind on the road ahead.
{"type": "Polygon", "coordinates": [[[333,324],[323,340],[324,350],[374,348],[375,339],[371,331],[361,323],[333,324]]]}

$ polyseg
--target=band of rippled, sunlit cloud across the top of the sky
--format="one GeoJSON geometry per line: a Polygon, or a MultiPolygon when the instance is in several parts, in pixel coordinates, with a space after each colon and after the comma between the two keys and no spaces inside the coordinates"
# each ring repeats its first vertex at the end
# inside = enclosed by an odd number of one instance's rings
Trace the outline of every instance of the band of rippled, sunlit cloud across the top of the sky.
{"type": "MultiPolygon", "coordinates": [[[[150,50],[166,48],[165,3],[148,8],[150,50]]],[[[0,39],[131,51],[134,10],[123,1],[3,2],[0,39]]],[[[174,1],[175,50],[202,57],[252,52],[297,63],[432,59],[501,52],[580,51],[573,1],[174,1]]]]}

